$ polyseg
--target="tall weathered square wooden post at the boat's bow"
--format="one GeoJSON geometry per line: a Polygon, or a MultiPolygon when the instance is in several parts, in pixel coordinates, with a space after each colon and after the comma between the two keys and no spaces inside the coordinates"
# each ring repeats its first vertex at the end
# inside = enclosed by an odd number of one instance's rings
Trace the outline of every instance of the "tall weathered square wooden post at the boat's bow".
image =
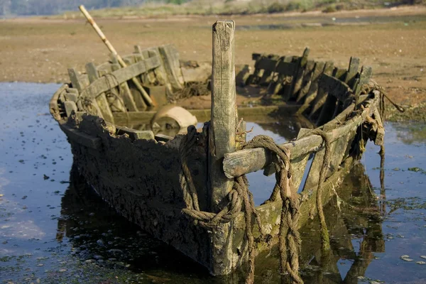
{"type": "MultiPolygon", "coordinates": [[[[212,116],[209,128],[209,178],[211,209],[219,212],[227,203],[234,180],[226,178],[223,170],[225,153],[236,151],[234,21],[217,21],[213,25],[212,116]]],[[[217,226],[212,233],[211,272],[228,274],[232,260],[233,222],[217,226]]]]}

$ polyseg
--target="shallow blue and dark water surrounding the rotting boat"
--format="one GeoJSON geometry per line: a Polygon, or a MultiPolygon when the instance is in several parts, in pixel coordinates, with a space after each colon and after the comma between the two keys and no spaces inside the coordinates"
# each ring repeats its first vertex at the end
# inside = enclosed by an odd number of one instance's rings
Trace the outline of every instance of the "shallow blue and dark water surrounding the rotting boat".
{"type": "MultiPolygon", "coordinates": [[[[48,113],[57,84],[0,83],[0,283],[241,283],[203,268],[120,217],[72,168],[48,113]]],[[[256,124],[284,142],[285,121],[256,124]]],[[[386,124],[379,148],[346,176],[324,208],[332,251],[320,256],[317,219],[301,229],[305,283],[425,283],[426,126],[386,124]]],[[[249,175],[256,203],[275,178],[249,175]]],[[[256,259],[256,283],[278,283],[278,253],[256,259]]]]}

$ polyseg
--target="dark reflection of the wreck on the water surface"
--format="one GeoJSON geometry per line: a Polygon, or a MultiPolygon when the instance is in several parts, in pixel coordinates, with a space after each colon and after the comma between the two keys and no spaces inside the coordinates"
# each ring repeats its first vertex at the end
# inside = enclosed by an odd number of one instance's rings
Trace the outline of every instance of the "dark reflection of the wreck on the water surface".
{"type": "MultiPolygon", "coordinates": [[[[271,125],[268,128],[273,129],[271,125]]],[[[373,253],[385,251],[381,207],[371,190],[364,165],[354,165],[332,200],[324,206],[324,213],[327,214],[331,250],[326,256],[322,255],[320,225],[317,216],[312,217],[300,228],[302,278],[305,283],[358,283],[373,260],[373,253]],[[359,249],[354,247],[354,242],[359,242],[359,249]],[[339,272],[342,261],[345,266],[350,266],[344,269],[346,274],[339,272]]],[[[206,277],[207,271],[200,269],[197,263],[138,231],[138,226],[104,203],[75,165],[70,173],[70,187],[62,197],[61,214],[57,239],[62,241],[66,236],[82,260],[100,258],[103,266],[123,269],[124,261],[131,265],[129,269],[132,271],[159,273],[168,278],[173,278],[174,273],[187,278],[194,274],[206,277]]],[[[278,273],[278,262],[276,246],[258,255],[256,277],[262,279],[259,283],[287,283],[287,277],[278,273]]],[[[240,268],[220,281],[241,283],[245,273],[244,268],[240,268]]],[[[216,283],[218,279],[211,280],[216,283]]]]}

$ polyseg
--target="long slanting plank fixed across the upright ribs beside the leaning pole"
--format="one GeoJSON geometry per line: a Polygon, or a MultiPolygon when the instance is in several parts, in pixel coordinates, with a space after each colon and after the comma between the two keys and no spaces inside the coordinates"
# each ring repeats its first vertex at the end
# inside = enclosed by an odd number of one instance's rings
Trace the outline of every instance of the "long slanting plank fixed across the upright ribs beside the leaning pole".
{"type": "Polygon", "coordinates": [[[114,71],[107,76],[100,77],[98,80],[90,84],[89,87],[84,89],[81,95],[97,97],[97,95],[107,92],[109,89],[117,87],[119,84],[127,82],[131,80],[131,78],[137,77],[143,72],[158,67],[159,65],[160,59],[158,57],[148,58],[128,67],[119,69],[116,69],[116,66],[112,64],[111,69],[114,67],[114,71]]]}

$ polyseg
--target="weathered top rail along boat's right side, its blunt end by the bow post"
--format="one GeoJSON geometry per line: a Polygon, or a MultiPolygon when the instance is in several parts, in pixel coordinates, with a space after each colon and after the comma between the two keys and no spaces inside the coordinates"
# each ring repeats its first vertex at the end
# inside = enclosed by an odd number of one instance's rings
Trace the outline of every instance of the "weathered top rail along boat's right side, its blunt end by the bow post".
{"type": "MultiPolygon", "coordinates": [[[[342,126],[327,132],[331,136],[331,142],[337,140],[344,133],[349,133],[352,129],[356,129],[364,122],[367,115],[371,116],[373,114],[378,105],[378,94],[375,94],[374,98],[368,99],[365,104],[366,106],[361,114],[349,119],[342,126]]],[[[322,138],[321,136],[310,135],[296,141],[284,143],[281,146],[288,148],[291,153],[291,159],[294,160],[300,155],[318,151],[322,146],[322,138]]],[[[271,153],[263,148],[244,149],[224,155],[224,171],[227,177],[237,177],[261,170],[269,163],[271,163],[271,153]]]]}

